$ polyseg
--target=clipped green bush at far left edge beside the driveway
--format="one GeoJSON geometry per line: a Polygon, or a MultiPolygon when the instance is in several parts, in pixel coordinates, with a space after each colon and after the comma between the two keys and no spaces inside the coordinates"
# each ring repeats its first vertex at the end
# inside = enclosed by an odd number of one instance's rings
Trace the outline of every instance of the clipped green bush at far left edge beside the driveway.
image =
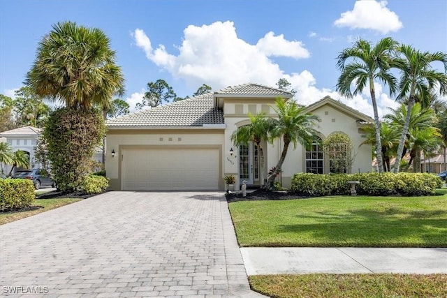
{"type": "Polygon", "coordinates": [[[33,204],[34,185],[28,179],[0,179],[0,210],[20,209],[33,204]]]}

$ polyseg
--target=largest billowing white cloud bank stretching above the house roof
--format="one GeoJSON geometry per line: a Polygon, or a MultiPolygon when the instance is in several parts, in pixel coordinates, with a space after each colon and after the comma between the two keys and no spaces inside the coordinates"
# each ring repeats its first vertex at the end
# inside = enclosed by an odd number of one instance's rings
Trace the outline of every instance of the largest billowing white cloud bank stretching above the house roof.
{"type": "MultiPolygon", "coordinates": [[[[282,35],[274,36],[274,33],[269,32],[256,45],[251,45],[237,37],[233,22],[215,22],[202,27],[190,25],[184,30],[182,45],[177,47],[179,53],[176,56],[169,54],[163,45],[154,50],[151,40],[141,29],[136,29],[133,37],[150,61],[168,70],[176,79],[186,81],[191,87],[205,83],[218,90],[247,82],[275,86],[284,77],[297,91],[295,98],[300,104],[309,105],[329,95],[364,114],[373,115],[369,93],[346,99],[332,89],[316,87],[316,79],[309,70],[284,73],[278,64],[269,59],[270,55],[281,54],[295,59],[298,57],[298,45],[302,44],[285,40],[282,35]],[[274,43],[290,47],[284,52],[274,52],[271,50],[274,43]]],[[[386,107],[393,100],[382,93],[380,85],[376,86],[376,90],[379,114],[386,114],[386,107]]],[[[144,89],[127,98],[131,109],[135,110],[135,104],[142,100],[142,96],[144,89]]]]}

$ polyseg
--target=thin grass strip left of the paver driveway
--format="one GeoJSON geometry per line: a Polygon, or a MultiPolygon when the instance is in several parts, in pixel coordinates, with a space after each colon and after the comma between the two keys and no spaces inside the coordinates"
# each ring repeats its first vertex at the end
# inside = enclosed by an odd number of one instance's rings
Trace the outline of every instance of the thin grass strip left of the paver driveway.
{"type": "Polygon", "coordinates": [[[82,199],[45,199],[45,200],[34,200],[33,206],[36,207],[27,211],[11,211],[11,212],[0,212],[0,225],[5,223],[10,223],[12,221],[18,221],[19,219],[33,216],[54,208],[62,207],[66,204],[71,204],[78,202],[82,199]]]}

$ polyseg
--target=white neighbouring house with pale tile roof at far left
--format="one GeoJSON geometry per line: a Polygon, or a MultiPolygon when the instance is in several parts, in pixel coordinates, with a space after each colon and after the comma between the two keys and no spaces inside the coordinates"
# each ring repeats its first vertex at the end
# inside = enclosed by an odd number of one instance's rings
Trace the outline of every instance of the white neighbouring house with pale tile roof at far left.
{"type": "MultiPolygon", "coordinates": [[[[39,134],[41,133],[41,128],[36,128],[33,126],[25,126],[21,128],[16,128],[11,131],[3,131],[0,133],[0,137],[4,137],[6,142],[10,144],[13,151],[22,150],[29,156],[29,161],[31,168],[40,167],[39,163],[34,161],[34,147],[38,140],[39,134]]],[[[4,168],[5,174],[10,171],[11,165],[6,165],[4,168]]]]}

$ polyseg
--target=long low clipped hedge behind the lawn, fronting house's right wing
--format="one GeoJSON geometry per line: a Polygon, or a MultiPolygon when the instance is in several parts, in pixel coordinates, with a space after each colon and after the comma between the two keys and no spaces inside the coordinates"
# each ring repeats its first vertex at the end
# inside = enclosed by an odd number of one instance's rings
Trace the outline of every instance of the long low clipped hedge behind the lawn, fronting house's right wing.
{"type": "Polygon", "coordinates": [[[360,181],[358,195],[434,195],[442,181],[427,173],[294,174],[291,190],[300,195],[349,195],[347,181],[360,181]]]}

